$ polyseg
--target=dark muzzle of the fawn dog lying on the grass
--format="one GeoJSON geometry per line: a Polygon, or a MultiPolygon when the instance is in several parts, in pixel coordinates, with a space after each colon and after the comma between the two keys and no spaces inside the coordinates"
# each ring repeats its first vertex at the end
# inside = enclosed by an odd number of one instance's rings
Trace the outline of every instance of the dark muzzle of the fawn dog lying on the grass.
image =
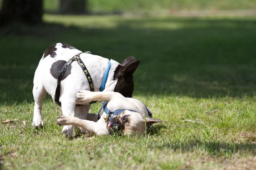
{"type": "Polygon", "coordinates": [[[113,136],[115,134],[121,135],[122,131],[124,130],[125,126],[122,120],[119,119],[119,115],[113,117],[112,119],[108,120],[107,122],[107,129],[109,135],[113,136]]]}

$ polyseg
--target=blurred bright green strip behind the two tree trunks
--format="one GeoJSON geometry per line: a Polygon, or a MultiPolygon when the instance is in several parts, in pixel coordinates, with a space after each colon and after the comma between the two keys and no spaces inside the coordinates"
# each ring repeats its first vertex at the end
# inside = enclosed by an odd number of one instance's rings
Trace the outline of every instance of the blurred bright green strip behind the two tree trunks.
{"type": "MultiPolygon", "coordinates": [[[[60,1],[44,0],[45,12],[58,12],[60,1]]],[[[91,14],[124,12],[172,12],[173,10],[256,9],[256,0],[88,0],[91,14]]]]}

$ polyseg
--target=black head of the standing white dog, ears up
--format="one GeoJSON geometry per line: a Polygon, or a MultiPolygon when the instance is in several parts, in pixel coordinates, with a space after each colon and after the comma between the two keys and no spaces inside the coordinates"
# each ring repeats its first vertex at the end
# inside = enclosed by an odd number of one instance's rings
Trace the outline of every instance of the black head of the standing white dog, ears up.
{"type": "Polygon", "coordinates": [[[140,64],[140,60],[128,57],[121,65],[118,65],[114,72],[114,80],[117,79],[115,92],[119,92],[125,97],[131,97],[134,91],[133,74],[140,64]]]}

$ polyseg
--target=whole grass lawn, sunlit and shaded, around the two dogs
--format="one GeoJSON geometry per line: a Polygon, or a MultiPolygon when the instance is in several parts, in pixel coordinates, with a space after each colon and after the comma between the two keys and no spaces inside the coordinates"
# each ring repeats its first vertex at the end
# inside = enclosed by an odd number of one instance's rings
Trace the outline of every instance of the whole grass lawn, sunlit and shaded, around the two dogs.
{"type": "Polygon", "coordinates": [[[256,168],[255,17],[45,15],[44,20],[44,26],[0,30],[4,169],[256,168]],[[142,137],[68,140],[55,124],[61,109],[47,96],[45,126],[32,128],[33,74],[55,42],[119,62],[140,59],[134,97],[163,123],[142,137]],[[6,119],[17,121],[3,123],[6,119]]]}

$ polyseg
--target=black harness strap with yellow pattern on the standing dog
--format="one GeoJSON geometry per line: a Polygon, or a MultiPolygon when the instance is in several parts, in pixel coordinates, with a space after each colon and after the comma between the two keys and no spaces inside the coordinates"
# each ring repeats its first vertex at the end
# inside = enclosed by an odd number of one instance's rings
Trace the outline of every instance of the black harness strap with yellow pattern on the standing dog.
{"type": "MultiPolygon", "coordinates": [[[[86,52],[82,52],[82,53],[89,53],[91,54],[90,51],[86,51],[86,52]]],[[[58,83],[57,83],[57,88],[56,88],[56,91],[55,91],[55,103],[59,106],[61,106],[61,102],[59,101],[60,99],[60,93],[61,93],[61,80],[65,74],[65,72],[67,71],[67,68],[70,66],[70,64],[73,62],[73,61],[77,61],[77,63],[80,65],[80,67],[82,68],[87,80],[88,80],[88,83],[90,85],[90,91],[94,92],[94,87],[93,87],[93,79],[92,77],[90,76],[90,73],[89,71],[87,70],[87,68],[85,67],[84,65],[84,62],[81,60],[80,58],[80,54],[82,53],[79,53],[79,54],[76,54],[74,57],[72,57],[64,66],[63,68],[61,69],[61,72],[59,73],[58,75],[58,83]]],[[[97,101],[91,101],[90,104],[93,104],[93,103],[96,103],[97,101]]]]}

